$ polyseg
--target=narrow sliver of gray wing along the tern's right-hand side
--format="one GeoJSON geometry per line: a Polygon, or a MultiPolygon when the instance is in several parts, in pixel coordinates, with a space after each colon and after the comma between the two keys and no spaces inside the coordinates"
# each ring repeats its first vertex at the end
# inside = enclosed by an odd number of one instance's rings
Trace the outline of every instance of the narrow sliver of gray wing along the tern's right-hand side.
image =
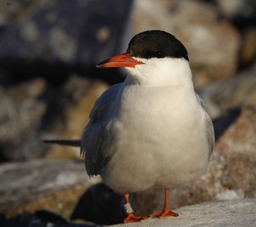
{"type": "Polygon", "coordinates": [[[206,133],[207,133],[207,139],[208,139],[209,158],[210,158],[210,156],[212,155],[212,152],[214,151],[214,146],[215,146],[214,125],[212,124],[212,120],[205,110],[203,99],[197,93],[195,93],[195,96],[197,97],[197,101],[200,103],[206,116],[206,133]]]}

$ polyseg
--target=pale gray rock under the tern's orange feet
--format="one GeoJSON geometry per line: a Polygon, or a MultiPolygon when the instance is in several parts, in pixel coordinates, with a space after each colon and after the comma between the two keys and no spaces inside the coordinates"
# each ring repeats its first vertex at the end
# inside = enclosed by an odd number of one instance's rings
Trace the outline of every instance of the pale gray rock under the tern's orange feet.
{"type": "MultiPolygon", "coordinates": [[[[119,224],[115,227],[168,226],[256,226],[256,199],[210,201],[175,210],[177,218],[150,218],[140,223],[119,224]]],[[[110,226],[109,226],[110,227],[110,226]]],[[[114,227],[114,226],[113,226],[114,227]]]]}

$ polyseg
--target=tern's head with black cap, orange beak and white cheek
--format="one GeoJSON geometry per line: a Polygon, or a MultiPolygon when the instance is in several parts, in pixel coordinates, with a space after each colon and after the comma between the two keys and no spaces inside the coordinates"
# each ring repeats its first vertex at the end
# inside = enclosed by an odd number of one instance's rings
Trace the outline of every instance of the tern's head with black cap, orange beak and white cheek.
{"type": "Polygon", "coordinates": [[[174,69],[189,66],[183,44],[172,34],[160,30],[141,32],[129,42],[127,51],[108,58],[97,67],[125,67],[131,77],[152,79],[152,75],[166,77],[174,69]]]}

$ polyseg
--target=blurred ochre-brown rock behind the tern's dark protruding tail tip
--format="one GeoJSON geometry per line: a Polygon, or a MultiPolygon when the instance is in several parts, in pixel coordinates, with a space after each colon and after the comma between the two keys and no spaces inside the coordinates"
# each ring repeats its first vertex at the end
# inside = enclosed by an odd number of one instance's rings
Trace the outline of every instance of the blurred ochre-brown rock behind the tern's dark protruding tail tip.
{"type": "MultiPolygon", "coordinates": [[[[44,132],[43,138],[79,139],[96,99],[108,88],[102,81],[89,81],[73,76],[64,85],[63,97],[69,99],[63,110],[63,120],[55,116],[55,127],[44,132]],[[59,125],[59,126],[58,126],[59,125]],[[61,125],[61,126],[60,126],[61,125]]],[[[70,146],[48,146],[45,156],[49,160],[76,159],[80,160],[79,148],[70,146]]]]}

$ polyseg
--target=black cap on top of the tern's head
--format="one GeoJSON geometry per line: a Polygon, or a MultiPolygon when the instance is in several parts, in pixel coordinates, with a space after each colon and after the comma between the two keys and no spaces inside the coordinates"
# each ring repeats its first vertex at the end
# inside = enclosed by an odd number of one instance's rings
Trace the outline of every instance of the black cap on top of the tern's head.
{"type": "Polygon", "coordinates": [[[185,58],[187,50],[172,34],[160,30],[141,32],[129,42],[127,53],[139,58],[185,58]]]}

